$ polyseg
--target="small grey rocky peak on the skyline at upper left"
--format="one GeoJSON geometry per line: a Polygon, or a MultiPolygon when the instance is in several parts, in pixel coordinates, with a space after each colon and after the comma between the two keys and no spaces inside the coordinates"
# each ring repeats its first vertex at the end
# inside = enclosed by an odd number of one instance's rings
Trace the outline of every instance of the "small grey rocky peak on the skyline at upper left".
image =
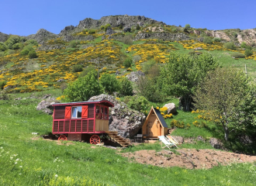
{"type": "Polygon", "coordinates": [[[39,44],[43,44],[47,40],[52,40],[56,38],[57,34],[50,33],[46,29],[39,29],[36,34],[26,36],[27,40],[36,40],[39,44]]]}

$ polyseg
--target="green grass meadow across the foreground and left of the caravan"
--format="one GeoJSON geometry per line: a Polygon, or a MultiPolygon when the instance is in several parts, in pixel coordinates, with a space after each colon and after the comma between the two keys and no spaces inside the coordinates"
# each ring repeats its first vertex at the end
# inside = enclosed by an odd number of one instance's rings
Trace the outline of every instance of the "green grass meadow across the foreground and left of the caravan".
{"type": "MultiPolygon", "coordinates": [[[[12,95],[14,97],[26,98],[29,94],[12,95]]],[[[58,145],[56,141],[43,140],[39,136],[51,132],[52,118],[36,111],[38,102],[37,98],[0,101],[1,185],[254,185],[256,167],[253,164],[233,164],[211,170],[155,167],[130,163],[116,154],[116,150],[101,146],[91,148],[92,145],[80,142],[58,145]],[[31,133],[40,135],[35,139],[31,133]]],[[[209,146],[197,143],[182,147],[209,146]]],[[[143,144],[123,152],[144,149],[160,150],[161,145],[143,144]]]]}

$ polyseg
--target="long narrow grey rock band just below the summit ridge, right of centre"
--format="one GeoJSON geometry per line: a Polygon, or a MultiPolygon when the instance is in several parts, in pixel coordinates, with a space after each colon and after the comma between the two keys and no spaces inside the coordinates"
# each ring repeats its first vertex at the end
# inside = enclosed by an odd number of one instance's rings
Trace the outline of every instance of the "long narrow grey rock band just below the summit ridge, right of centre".
{"type": "Polygon", "coordinates": [[[190,40],[185,33],[138,33],[134,40],[158,39],[158,40],[190,40]]]}

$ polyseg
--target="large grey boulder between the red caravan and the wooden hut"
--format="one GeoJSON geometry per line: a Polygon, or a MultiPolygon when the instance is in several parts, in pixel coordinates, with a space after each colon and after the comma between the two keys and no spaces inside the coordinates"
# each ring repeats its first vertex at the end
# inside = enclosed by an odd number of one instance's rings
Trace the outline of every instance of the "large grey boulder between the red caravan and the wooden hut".
{"type": "Polygon", "coordinates": [[[117,131],[119,136],[133,137],[144,123],[146,116],[143,113],[133,111],[124,102],[118,101],[111,95],[97,95],[89,99],[106,99],[115,106],[109,109],[109,131],[117,131]]]}

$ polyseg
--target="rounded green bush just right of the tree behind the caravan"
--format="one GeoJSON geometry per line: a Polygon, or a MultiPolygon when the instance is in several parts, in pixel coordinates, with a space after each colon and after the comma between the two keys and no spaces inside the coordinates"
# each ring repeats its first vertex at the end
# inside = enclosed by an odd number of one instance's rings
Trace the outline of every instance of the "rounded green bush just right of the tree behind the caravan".
{"type": "Polygon", "coordinates": [[[115,91],[119,91],[119,81],[117,81],[114,75],[103,74],[100,77],[99,82],[102,84],[104,91],[110,95],[112,95],[112,93],[115,91]]]}

